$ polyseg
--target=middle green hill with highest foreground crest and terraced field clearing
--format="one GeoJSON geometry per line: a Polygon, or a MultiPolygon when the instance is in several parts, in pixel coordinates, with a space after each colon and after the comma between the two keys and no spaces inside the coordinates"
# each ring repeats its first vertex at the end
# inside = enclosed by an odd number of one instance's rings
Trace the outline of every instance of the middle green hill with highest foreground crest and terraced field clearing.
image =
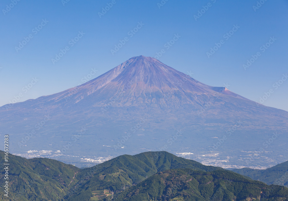
{"type": "Polygon", "coordinates": [[[191,168],[213,171],[219,167],[205,166],[194,160],[177,157],[166,151],[144,152],[134,156],[122,155],[91,168],[85,168],[77,175],[79,181],[69,200],[79,200],[90,196],[89,191],[97,189],[121,190],[135,182],[150,177],[157,172],[172,168],[191,168]]]}

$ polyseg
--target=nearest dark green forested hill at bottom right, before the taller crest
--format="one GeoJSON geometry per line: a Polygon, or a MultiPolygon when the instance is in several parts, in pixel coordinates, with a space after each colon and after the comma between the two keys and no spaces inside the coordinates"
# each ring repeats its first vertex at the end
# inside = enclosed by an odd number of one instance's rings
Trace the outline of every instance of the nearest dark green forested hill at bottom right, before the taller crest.
{"type": "Polygon", "coordinates": [[[226,170],[171,169],[123,191],[115,200],[288,200],[288,188],[269,186],[226,170]]]}

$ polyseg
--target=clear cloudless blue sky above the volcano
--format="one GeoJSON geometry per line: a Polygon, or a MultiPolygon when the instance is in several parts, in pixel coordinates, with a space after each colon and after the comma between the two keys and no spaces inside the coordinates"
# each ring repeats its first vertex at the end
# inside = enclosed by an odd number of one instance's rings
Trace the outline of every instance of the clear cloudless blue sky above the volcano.
{"type": "Polygon", "coordinates": [[[0,8],[0,105],[19,93],[18,102],[66,90],[163,49],[161,62],[198,81],[257,102],[266,93],[264,105],[288,111],[287,0],[1,0],[0,8]]]}

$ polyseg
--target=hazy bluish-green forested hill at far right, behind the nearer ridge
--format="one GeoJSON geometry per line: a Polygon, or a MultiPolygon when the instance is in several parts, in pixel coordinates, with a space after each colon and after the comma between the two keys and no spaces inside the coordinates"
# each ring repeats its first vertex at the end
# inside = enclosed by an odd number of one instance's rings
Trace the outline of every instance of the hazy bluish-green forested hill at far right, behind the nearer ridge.
{"type": "Polygon", "coordinates": [[[254,180],[263,181],[269,185],[274,184],[288,187],[288,161],[265,170],[241,168],[233,169],[232,171],[254,180]]]}

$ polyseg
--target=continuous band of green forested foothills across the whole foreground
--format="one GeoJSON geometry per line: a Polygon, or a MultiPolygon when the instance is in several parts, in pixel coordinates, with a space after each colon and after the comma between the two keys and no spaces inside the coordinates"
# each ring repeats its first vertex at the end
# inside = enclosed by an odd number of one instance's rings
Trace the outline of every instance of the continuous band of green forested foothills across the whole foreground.
{"type": "MultiPolygon", "coordinates": [[[[0,157],[4,152],[0,151],[0,157]]],[[[288,189],[253,181],[166,151],[122,155],[79,169],[48,158],[10,154],[9,199],[21,200],[288,200],[288,189]],[[113,193],[112,193],[113,192],[113,193]]],[[[3,164],[1,164],[1,174],[3,164]]],[[[0,185],[4,185],[3,176],[0,185]]],[[[0,199],[6,200],[0,191],[0,199]]]]}

